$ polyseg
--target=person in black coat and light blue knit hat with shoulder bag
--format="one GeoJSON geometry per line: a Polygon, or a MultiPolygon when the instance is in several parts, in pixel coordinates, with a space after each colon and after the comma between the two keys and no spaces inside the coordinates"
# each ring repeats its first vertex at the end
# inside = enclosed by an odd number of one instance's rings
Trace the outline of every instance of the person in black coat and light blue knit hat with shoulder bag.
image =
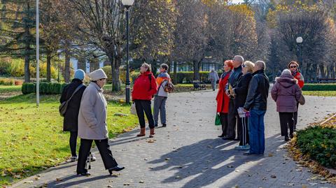
{"type": "Polygon", "coordinates": [[[77,135],[78,135],[78,113],[80,107],[80,100],[82,99],[83,92],[86,88],[83,85],[83,80],[85,78],[85,72],[81,69],[78,69],[75,72],[75,76],[69,85],[66,85],[62,91],[61,99],[59,99],[60,103],[67,101],[70,99],[73,92],[75,92],[76,88],[81,86],[78,92],[73,95],[71,101],[69,101],[68,107],[66,109],[66,113],[64,115],[63,121],[63,131],[70,132],[70,149],[71,149],[71,161],[76,161],[76,145],[77,145],[77,135]]]}

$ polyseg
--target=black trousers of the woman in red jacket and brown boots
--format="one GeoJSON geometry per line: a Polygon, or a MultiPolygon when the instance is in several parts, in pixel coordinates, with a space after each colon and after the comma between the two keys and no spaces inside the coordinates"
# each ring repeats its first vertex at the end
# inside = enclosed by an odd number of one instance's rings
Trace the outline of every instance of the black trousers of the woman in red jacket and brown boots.
{"type": "Polygon", "coordinates": [[[152,114],[151,101],[135,100],[135,109],[139,118],[139,124],[141,128],[146,127],[145,114],[149,123],[149,128],[154,129],[154,119],[152,114]]]}

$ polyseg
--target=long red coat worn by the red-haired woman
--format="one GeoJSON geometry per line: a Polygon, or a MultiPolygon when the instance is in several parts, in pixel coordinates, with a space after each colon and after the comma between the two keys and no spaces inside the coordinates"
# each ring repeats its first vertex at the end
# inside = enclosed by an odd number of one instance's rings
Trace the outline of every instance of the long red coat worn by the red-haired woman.
{"type": "Polygon", "coordinates": [[[216,96],[217,101],[217,113],[228,113],[230,98],[225,94],[225,86],[228,84],[230,73],[225,75],[224,78],[219,80],[219,89],[216,96]]]}

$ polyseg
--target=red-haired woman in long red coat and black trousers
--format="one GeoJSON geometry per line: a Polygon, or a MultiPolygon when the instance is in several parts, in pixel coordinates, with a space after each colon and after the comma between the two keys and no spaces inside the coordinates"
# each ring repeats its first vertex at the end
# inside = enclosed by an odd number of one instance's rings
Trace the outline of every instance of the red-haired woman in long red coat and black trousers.
{"type": "Polygon", "coordinates": [[[217,101],[217,113],[219,113],[221,117],[222,131],[223,133],[220,138],[226,136],[226,131],[228,129],[228,112],[229,112],[229,102],[230,98],[225,94],[225,86],[228,84],[228,80],[230,77],[231,70],[233,68],[232,60],[228,60],[224,62],[224,73],[221,75],[219,80],[219,89],[218,94],[216,96],[217,101]]]}

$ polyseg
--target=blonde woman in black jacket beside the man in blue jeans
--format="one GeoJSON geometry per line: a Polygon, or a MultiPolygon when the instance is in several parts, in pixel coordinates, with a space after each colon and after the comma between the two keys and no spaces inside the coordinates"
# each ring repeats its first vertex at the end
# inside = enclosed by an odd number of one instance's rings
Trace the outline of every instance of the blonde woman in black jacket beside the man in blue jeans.
{"type": "MultiPolygon", "coordinates": [[[[244,107],[247,93],[248,93],[248,86],[250,85],[250,81],[253,77],[253,67],[254,64],[252,62],[244,62],[241,64],[242,73],[241,78],[238,82],[237,87],[233,89],[235,95],[235,103],[236,103],[236,110],[241,107],[244,107]]],[[[235,147],[236,150],[249,150],[250,147],[248,145],[248,118],[247,117],[239,117],[238,125],[238,138],[240,140],[239,146],[235,147]]]]}

